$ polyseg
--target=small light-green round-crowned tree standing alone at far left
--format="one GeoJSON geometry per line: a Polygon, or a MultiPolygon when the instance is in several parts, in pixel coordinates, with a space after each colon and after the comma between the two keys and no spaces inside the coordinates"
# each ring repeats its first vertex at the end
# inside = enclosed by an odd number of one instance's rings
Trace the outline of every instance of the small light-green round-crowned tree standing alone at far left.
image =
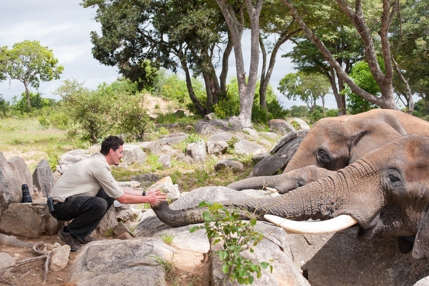
{"type": "Polygon", "coordinates": [[[31,108],[29,85],[37,89],[40,80],[59,79],[64,67],[57,63],[48,47],[42,47],[39,41],[25,40],[14,44],[11,50],[7,46],[0,49],[0,79],[18,79],[24,83],[27,105],[31,108]]]}

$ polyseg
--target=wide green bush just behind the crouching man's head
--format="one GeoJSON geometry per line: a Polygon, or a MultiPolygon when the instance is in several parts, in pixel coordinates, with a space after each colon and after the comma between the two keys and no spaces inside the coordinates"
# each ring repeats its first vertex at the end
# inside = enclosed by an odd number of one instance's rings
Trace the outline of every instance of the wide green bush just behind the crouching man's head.
{"type": "Polygon", "coordinates": [[[71,120],[70,137],[81,137],[96,143],[113,128],[141,140],[154,124],[144,107],[144,96],[130,80],[102,83],[96,90],[83,87],[75,79],[67,79],[55,93],[61,96],[64,110],[71,120]]]}

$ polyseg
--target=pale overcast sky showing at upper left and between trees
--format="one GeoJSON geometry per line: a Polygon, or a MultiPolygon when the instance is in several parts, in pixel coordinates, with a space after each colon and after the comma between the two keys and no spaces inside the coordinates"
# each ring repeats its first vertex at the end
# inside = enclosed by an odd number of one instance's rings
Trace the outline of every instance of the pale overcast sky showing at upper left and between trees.
{"type": "MultiPolygon", "coordinates": [[[[99,24],[93,20],[94,10],[83,8],[80,0],[14,0],[2,1],[0,10],[0,46],[8,46],[9,49],[15,43],[24,40],[40,41],[42,46],[53,50],[59,64],[64,66],[61,79],[49,82],[40,82],[40,87],[33,92],[40,91],[43,97],[55,97],[53,91],[67,78],[76,78],[79,82],[85,81],[85,87],[95,89],[102,82],[110,83],[118,77],[115,67],[100,64],[92,57],[89,33],[99,31],[99,24]]],[[[250,41],[243,37],[243,47],[249,47],[250,41]]],[[[282,46],[278,52],[276,64],[271,76],[270,84],[277,92],[280,79],[287,73],[293,72],[293,66],[289,59],[281,58],[284,50],[282,46]]],[[[244,48],[245,50],[245,48],[244,48]]],[[[247,49],[244,59],[250,59],[250,51],[247,49]]],[[[248,61],[247,61],[248,62],[248,61]]],[[[234,54],[231,54],[229,76],[235,76],[234,54]]],[[[248,70],[248,63],[245,66],[248,70]]],[[[0,82],[0,94],[7,101],[14,96],[20,96],[24,92],[24,84],[19,80],[5,80],[0,82]]],[[[333,98],[333,96],[329,96],[333,98]]],[[[301,102],[288,101],[279,96],[285,108],[292,105],[303,105],[301,102]]],[[[318,102],[319,105],[322,103],[318,102]]],[[[327,107],[335,108],[335,101],[328,100],[327,107]]]]}

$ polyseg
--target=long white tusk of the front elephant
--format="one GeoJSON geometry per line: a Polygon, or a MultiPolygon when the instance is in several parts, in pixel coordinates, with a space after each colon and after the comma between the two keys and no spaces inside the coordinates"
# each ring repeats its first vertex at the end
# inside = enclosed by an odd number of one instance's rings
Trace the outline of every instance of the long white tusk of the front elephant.
{"type": "Polygon", "coordinates": [[[348,228],[357,223],[352,216],[340,215],[336,218],[321,222],[298,222],[283,219],[273,215],[264,215],[264,218],[287,233],[326,234],[348,228]]]}

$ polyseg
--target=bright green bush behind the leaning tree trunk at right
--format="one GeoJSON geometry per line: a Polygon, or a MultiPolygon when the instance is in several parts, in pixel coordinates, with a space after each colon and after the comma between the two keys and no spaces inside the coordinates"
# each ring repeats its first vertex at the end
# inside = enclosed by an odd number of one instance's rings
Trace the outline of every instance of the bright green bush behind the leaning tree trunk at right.
{"type": "MultiPolygon", "coordinates": [[[[384,66],[384,61],[382,58],[378,57],[378,62],[380,66],[384,66]]],[[[380,95],[380,86],[378,86],[377,82],[372,76],[367,62],[360,61],[355,63],[352,67],[352,71],[350,72],[350,77],[363,90],[373,94],[374,96],[380,95]]],[[[347,85],[342,90],[342,94],[346,96],[347,109],[350,114],[358,114],[377,108],[376,105],[371,104],[354,93],[347,85]]]]}

